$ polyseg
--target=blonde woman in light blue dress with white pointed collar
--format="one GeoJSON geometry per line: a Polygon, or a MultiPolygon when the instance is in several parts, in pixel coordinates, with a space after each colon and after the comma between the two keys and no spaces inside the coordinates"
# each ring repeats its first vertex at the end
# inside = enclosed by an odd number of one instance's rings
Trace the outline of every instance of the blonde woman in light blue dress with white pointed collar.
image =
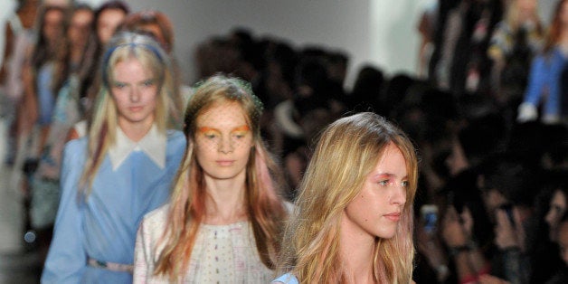
{"type": "Polygon", "coordinates": [[[166,203],[185,148],[171,67],[153,39],[118,33],[102,58],[90,132],[69,142],[42,283],[131,283],[143,215],[166,203]]]}

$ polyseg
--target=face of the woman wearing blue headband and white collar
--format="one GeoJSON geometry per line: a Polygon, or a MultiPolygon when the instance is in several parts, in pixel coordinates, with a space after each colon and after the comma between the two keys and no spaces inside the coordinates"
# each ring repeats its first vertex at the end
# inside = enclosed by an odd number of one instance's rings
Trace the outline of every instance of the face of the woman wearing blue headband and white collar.
{"type": "Polygon", "coordinates": [[[118,109],[118,125],[151,126],[154,122],[157,82],[152,71],[134,58],[118,62],[109,82],[110,92],[118,109]]]}

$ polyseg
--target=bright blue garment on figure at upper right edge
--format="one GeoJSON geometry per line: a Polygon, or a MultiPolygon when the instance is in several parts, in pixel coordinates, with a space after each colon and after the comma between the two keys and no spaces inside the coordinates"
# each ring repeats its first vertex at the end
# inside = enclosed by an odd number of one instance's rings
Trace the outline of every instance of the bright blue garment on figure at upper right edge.
{"type": "Polygon", "coordinates": [[[531,72],[525,90],[525,102],[538,107],[544,97],[544,90],[548,90],[548,98],[544,101],[544,115],[560,115],[560,77],[566,62],[567,59],[556,47],[550,54],[536,56],[531,64],[531,72]]]}

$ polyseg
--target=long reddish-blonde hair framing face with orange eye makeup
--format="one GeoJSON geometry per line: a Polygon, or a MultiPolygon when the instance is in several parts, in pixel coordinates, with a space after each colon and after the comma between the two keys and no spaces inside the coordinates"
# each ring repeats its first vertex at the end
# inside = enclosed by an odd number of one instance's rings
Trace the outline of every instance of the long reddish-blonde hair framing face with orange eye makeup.
{"type": "Polygon", "coordinates": [[[278,166],[260,137],[262,104],[252,94],[248,83],[216,75],[198,84],[185,110],[187,147],[173,182],[169,222],[162,240],[165,247],[154,271],[171,281],[183,278],[205,213],[204,172],[194,153],[196,119],[213,105],[225,102],[237,102],[241,106],[253,133],[254,147],[246,166],[246,205],[260,260],[274,269],[287,212],[277,194],[277,181],[281,180],[278,166]]]}

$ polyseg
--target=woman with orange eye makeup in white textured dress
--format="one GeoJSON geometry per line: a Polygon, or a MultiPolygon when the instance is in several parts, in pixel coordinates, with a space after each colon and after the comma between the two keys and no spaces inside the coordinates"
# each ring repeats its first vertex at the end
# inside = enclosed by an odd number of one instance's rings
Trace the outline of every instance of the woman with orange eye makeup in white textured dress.
{"type": "Polygon", "coordinates": [[[260,137],[261,111],[243,80],[198,84],[171,201],[138,229],[135,283],[270,282],[288,212],[260,137]]]}

